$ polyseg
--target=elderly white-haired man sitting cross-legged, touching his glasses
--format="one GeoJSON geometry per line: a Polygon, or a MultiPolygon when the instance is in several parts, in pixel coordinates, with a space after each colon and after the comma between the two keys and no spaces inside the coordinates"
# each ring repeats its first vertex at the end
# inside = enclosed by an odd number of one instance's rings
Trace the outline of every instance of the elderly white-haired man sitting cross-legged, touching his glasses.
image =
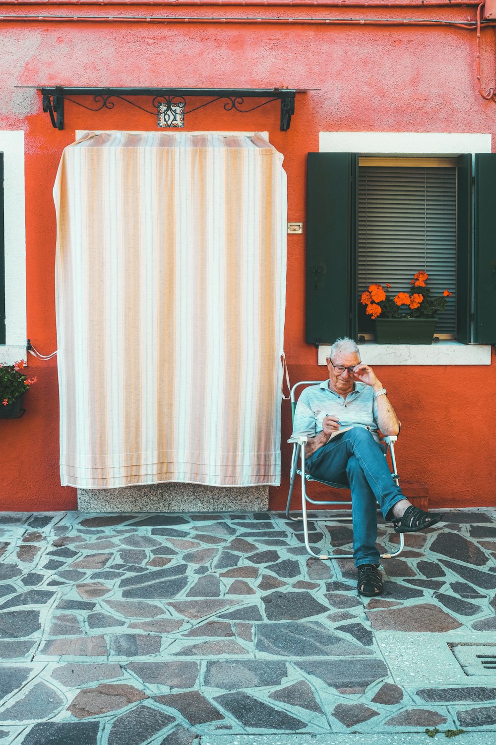
{"type": "Polygon", "coordinates": [[[306,465],[314,478],[350,485],[358,593],[371,597],[382,592],[376,502],[384,519],[393,520],[396,533],[425,530],[442,515],[413,507],[393,481],[379,430],[398,434],[399,419],[376,373],[361,362],[355,341],[338,339],[327,368],[329,380],[307,387],[298,399],[293,433],[309,437],[306,465]],[[333,432],[350,426],[329,440],[333,432]]]}

